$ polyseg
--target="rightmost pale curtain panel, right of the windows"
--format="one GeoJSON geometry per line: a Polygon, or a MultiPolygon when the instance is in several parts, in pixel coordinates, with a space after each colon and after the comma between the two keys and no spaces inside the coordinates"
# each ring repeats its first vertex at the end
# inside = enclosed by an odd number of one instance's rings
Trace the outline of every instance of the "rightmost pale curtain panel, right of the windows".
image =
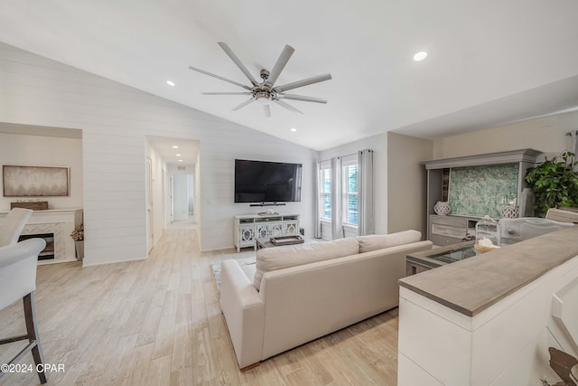
{"type": "Polygon", "coordinates": [[[358,231],[359,236],[373,234],[373,150],[358,152],[358,231]]]}

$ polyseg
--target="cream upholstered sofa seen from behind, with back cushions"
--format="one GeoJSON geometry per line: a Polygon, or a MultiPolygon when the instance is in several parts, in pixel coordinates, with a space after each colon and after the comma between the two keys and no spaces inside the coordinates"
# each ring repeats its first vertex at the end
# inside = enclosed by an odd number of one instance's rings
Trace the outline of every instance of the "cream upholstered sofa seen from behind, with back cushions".
{"type": "Polygon", "coordinates": [[[239,368],[396,307],[406,255],[431,249],[419,231],[259,249],[225,260],[220,306],[239,368]]]}

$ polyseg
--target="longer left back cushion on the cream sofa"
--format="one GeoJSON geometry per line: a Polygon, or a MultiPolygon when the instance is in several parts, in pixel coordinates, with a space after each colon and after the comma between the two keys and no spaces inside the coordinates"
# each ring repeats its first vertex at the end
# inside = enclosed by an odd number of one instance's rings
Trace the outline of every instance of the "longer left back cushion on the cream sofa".
{"type": "Polygon", "coordinates": [[[359,242],[353,238],[259,249],[256,251],[256,272],[253,285],[258,290],[261,287],[261,278],[269,271],[342,258],[357,253],[359,253],[359,242]]]}

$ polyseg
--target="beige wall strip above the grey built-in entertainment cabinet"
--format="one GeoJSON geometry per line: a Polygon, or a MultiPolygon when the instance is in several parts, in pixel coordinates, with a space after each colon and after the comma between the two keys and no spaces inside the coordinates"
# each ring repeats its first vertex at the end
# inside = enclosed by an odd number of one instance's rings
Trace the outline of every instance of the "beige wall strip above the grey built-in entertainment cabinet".
{"type": "Polygon", "coordinates": [[[571,112],[459,136],[437,138],[433,140],[433,159],[525,148],[555,155],[564,150],[572,150],[572,139],[565,134],[576,129],[578,112],[571,112]]]}

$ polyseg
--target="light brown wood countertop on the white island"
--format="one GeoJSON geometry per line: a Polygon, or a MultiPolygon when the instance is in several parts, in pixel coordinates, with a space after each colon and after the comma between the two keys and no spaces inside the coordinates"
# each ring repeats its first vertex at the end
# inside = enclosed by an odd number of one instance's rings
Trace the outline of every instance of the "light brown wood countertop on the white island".
{"type": "Polygon", "coordinates": [[[399,280],[401,287],[474,316],[578,256],[578,226],[399,280]]]}

